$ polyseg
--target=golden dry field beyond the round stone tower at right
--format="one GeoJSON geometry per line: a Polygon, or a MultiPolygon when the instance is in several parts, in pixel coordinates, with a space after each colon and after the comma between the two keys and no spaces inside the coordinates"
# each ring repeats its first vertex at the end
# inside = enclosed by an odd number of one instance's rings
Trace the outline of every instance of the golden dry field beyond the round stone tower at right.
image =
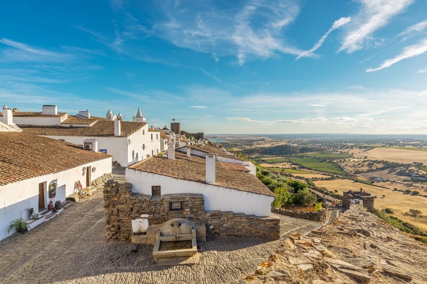
{"type": "MultiPolygon", "coordinates": [[[[374,202],[374,207],[376,209],[390,208],[393,210],[395,216],[427,231],[427,197],[393,191],[392,188],[399,188],[401,185],[388,183],[391,188],[381,188],[349,179],[317,180],[314,181],[314,184],[318,187],[326,187],[328,190],[338,190],[340,194],[343,191],[349,190],[359,191],[360,187],[362,187],[366,192],[377,196],[374,202]],[[382,197],[383,195],[385,195],[385,198],[382,197]],[[420,210],[423,213],[423,217],[406,215],[405,212],[408,212],[409,209],[420,210]]],[[[387,183],[385,182],[384,184],[387,183]]],[[[417,190],[420,194],[427,195],[427,191],[417,190]]]]}

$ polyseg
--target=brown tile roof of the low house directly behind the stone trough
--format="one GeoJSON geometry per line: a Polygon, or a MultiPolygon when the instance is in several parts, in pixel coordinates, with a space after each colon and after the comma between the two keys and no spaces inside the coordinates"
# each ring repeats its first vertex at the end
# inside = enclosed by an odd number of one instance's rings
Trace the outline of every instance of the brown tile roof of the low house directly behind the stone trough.
{"type": "MultiPolygon", "coordinates": [[[[188,158],[186,154],[177,151],[175,151],[175,160],[168,160],[167,155],[163,157],[154,156],[129,166],[129,169],[206,183],[205,159],[196,156],[188,158]]],[[[220,162],[216,162],[215,171],[215,185],[217,186],[275,196],[274,193],[254,175],[239,171],[231,171],[220,162]]]]}

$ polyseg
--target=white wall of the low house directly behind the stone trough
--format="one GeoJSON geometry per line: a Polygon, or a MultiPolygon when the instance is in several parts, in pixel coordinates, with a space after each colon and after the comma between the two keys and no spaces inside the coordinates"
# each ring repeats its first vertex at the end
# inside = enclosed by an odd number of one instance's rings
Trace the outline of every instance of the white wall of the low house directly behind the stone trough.
{"type": "Polygon", "coordinates": [[[126,181],[132,183],[132,191],[151,195],[153,185],[160,185],[161,194],[203,194],[205,210],[233,211],[234,213],[270,216],[274,197],[246,192],[217,185],[170,178],[162,175],[126,169],[126,181]]]}

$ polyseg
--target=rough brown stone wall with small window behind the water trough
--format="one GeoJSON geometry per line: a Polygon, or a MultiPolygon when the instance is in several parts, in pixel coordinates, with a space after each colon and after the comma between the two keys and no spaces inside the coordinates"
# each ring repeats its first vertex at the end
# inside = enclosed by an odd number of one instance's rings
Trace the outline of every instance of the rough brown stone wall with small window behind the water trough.
{"type": "Polygon", "coordinates": [[[104,207],[107,237],[127,240],[132,235],[131,220],[149,214],[149,224],[183,218],[205,223],[210,236],[240,236],[278,239],[279,218],[244,213],[204,211],[202,194],[165,194],[160,197],[133,194],[132,184],[111,182],[104,186],[104,207]],[[182,202],[183,210],[170,211],[170,202],[182,202]]]}

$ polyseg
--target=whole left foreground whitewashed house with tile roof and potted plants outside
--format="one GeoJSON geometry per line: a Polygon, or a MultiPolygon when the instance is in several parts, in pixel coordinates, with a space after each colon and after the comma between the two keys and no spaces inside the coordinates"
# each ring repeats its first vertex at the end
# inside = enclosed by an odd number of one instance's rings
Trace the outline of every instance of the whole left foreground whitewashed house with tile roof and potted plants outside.
{"type": "Polygon", "coordinates": [[[15,232],[8,233],[12,221],[29,219],[28,209],[39,213],[50,201],[63,202],[77,181],[89,186],[112,170],[108,154],[24,132],[0,132],[0,145],[0,240],[15,232]]]}

